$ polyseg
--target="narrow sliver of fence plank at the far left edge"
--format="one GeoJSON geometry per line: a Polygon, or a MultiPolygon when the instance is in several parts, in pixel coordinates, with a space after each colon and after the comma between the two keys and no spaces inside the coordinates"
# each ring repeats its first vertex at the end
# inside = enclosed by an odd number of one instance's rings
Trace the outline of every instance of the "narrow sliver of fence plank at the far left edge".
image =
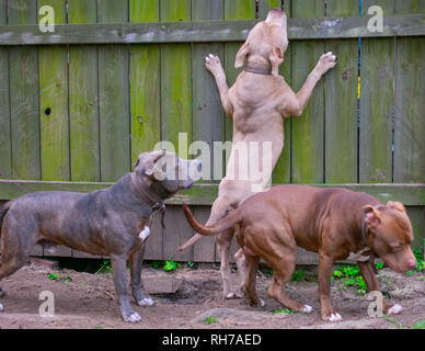
{"type": "MultiPolygon", "coordinates": [[[[4,16],[5,19],[5,16],[4,16]]],[[[8,49],[0,47],[0,178],[12,178],[8,49]]]]}

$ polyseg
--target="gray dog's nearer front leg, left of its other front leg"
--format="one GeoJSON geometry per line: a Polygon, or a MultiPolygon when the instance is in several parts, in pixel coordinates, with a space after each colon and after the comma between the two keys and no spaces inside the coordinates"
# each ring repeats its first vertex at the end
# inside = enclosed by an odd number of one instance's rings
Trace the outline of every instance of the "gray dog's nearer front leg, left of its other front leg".
{"type": "Polygon", "coordinates": [[[118,297],[118,304],[120,308],[122,317],[125,321],[138,322],[140,316],[136,313],[128,297],[127,284],[126,284],[126,257],[122,256],[112,256],[112,272],[115,284],[116,295],[118,297]]]}

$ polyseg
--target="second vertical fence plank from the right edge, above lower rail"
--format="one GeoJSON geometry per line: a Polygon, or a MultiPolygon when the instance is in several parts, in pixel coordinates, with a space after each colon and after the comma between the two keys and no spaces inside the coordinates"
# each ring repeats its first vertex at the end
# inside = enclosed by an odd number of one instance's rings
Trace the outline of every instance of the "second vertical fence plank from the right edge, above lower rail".
{"type": "MultiPolygon", "coordinates": [[[[361,4],[363,15],[374,4],[394,14],[393,0],[361,4]]],[[[359,182],[392,182],[394,39],[363,38],[360,58],[359,182]]]]}

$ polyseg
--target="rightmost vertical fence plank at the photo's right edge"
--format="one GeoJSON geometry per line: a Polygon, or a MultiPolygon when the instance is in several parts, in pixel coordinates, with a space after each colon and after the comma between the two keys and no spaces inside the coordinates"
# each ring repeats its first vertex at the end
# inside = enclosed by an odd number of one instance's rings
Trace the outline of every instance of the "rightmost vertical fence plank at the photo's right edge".
{"type": "MultiPolygon", "coordinates": [[[[395,11],[399,14],[425,11],[425,3],[413,0],[398,1],[395,11]]],[[[394,182],[425,180],[424,97],[425,38],[397,38],[394,182]]]]}

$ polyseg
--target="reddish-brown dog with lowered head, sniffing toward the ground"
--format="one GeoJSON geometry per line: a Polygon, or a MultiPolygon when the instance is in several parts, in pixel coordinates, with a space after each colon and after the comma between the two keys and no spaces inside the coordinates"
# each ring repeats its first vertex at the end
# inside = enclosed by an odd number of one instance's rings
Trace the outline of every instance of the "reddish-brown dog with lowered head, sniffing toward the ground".
{"type": "MultiPolygon", "coordinates": [[[[254,194],[213,226],[202,226],[187,206],[185,215],[194,230],[216,235],[238,226],[237,240],[246,257],[245,292],[252,305],[260,258],[274,270],[268,296],[297,312],[311,312],[284,293],[296,263],[296,246],[319,253],[319,301],[322,319],[342,319],[331,304],[330,279],[336,260],[354,260],[370,291],[379,291],[374,256],[395,272],[411,270],[413,233],[404,206],[382,205],[366,193],[338,188],[278,185],[254,194]]],[[[383,299],[383,313],[398,314],[401,306],[383,299]]]]}

